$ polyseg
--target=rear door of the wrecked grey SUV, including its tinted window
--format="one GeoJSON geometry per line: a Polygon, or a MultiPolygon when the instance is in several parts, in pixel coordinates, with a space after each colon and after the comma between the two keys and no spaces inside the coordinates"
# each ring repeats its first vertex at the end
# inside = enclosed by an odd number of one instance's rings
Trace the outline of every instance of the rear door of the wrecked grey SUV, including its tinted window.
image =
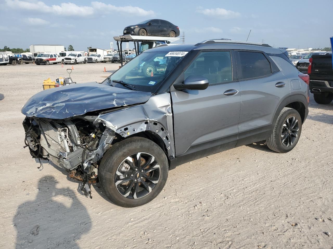
{"type": "Polygon", "coordinates": [[[241,108],[238,145],[266,139],[281,101],[290,96],[288,79],[269,56],[260,51],[235,51],[241,108]]]}

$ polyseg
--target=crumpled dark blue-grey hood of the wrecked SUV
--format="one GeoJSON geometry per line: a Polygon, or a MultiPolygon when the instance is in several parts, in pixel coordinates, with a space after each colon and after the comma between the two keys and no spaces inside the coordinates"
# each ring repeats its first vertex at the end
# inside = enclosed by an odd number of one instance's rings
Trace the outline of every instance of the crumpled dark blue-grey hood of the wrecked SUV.
{"type": "Polygon", "coordinates": [[[27,101],[21,112],[28,117],[66,119],[87,112],[144,103],[150,96],[149,92],[89,82],[41,91],[27,101]]]}

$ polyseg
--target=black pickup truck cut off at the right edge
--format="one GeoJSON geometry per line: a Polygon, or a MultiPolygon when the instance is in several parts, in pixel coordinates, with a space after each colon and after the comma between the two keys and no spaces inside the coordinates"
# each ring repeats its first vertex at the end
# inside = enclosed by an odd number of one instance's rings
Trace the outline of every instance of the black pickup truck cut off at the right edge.
{"type": "Polygon", "coordinates": [[[308,68],[310,92],[318,104],[328,105],[333,100],[332,54],[313,55],[308,68]]]}

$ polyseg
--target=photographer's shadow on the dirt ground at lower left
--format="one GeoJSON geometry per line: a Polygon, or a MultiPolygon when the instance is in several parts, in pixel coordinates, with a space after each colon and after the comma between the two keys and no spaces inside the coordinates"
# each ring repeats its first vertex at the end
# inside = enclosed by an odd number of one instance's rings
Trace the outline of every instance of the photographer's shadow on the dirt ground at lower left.
{"type": "Polygon", "coordinates": [[[89,233],[91,218],[72,190],[56,185],[53,176],[42,177],[36,198],[17,208],[15,248],[80,248],[77,241],[89,233]]]}

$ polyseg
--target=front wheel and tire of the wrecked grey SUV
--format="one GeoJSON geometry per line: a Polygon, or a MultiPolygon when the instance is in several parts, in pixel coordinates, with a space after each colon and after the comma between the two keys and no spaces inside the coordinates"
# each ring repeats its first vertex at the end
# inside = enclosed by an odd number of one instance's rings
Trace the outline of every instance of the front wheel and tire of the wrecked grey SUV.
{"type": "Polygon", "coordinates": [[[164,151],[153,141],[142,137],[131,137],[116,143],[108,149],[101,161],[98,175],[104,193],[114,204],[121,207],[138,207],[152,201],[164,188],[168,175],[168,161],[164,151]],[[135,171],[135,167],[138,164],[135,164],[134,158],[137,158],[137,153],[139,152],[141,152],[140,158],[142,158],[141,165],[144,165],[145,159],[148,161],[150,158],[152,159],[152,157],[154,157],[152,164],[148,164],[146,167],[144,166],[145,170],[151,170],[146,174],[142,173],[144,170],[142,168],[135,171]],[[127,160],[129,157],[133,158],[133,166],[131,168],[127,160]],[[142,161],[143,159],[144,163],[142,161]],[[123,164],[125,164],[125,166],[127,164],[128,169],[123,168],[122,172],[129,170],[129,173],[119,176],[118,170],[124,167],[122,166],[123,164]],[[116,172],[118,173],[116,174],[116,172]],[[148,180],[144,176],[150,177],[151,179],[155,178],[155,182],[156,179],[157,182],[153,183],[153,181],[148,180]],[[121,178],[125,177],[128,178],[129,181],[116,186],[116,183],[119,182],[121,178]],[[127,183],[127,185],[131,184],[131,187],[127,187],[124,183],[127,183]],[[145,183],[146,187],[144,187],[143,183],[145,183]],[[139,189],[137,193],[134,190],[135,186],[138,186],[139,189]],[[129,190],[128,194],[125,193],[126,188],[129,190]],[[123,192],[123,194],[121,192],[123,192]],[[127,197],[125,197],[126,195],[127,197]]]}

